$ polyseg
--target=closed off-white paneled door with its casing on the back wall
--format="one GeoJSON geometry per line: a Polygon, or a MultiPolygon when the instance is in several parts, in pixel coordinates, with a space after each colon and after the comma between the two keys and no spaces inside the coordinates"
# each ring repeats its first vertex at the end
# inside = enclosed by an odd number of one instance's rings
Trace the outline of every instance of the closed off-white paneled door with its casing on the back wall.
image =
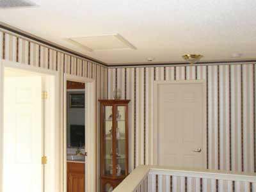
{"type": "Polygon", "coordinates": [[[204,81],[157,81],[154,92],[154,163],[205,168],[204,81]]]}

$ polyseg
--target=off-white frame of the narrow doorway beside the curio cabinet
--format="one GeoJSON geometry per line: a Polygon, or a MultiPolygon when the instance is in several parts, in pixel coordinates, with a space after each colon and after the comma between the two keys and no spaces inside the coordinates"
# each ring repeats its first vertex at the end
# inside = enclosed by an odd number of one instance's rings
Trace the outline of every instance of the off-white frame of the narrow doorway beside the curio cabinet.
{"type": "Polygon", "coordinates": [[[64,74],[63,79],[63,191],[67,192],[67,81],[85,84],[85,191],[96,191],[96,108],[95,108],[95,80],[64,74]]]}

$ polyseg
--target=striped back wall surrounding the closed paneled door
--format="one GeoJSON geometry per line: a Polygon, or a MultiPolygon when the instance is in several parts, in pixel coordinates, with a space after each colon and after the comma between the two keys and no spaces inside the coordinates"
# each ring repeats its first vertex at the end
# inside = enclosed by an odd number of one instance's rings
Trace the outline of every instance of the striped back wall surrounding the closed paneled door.
{"type": "Polygon", "coordinates": [[[155,80],[205,79],[207,168],[256,172],[255,64],[108,69],[109,99],[122,89],[129,106],[130,171],[152,164],[155,80]]]}

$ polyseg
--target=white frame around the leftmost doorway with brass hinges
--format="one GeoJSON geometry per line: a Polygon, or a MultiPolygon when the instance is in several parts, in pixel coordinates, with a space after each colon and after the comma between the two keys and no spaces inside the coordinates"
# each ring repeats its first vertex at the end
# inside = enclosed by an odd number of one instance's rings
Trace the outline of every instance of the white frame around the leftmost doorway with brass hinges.
{"type": "MultiPolygon", "coordinates": [[[[34,72],[36,74],[40,74],[42,76],[51,76],[54,78],[54,84],[51,85],[50,90],[54,91],[52,95],[54,95],[54,115],[55,115],[55,131],[56,135],[60,134],[60,102],[58,102],[60,98],[60,93],[58,90],[60,90],[60,74],[53,70],[47,70],[45,68],[39,68],[34,67],[31,65],[22,65],[21,63],[17,63],[14,61],[8,61],[8,60],[1,60],[0,59],[0,186],[3,186],[3,100],[4,100],[4,68],[13,68],[15,70],[25,70],[28,72],[34,72]],[[52,90],[52,88],[55,88],[55,90],[52,90]]],[[[60,143],[60,140],[56,136],[56,151],[58,148],[58,143],[60,143]]],[[[60,153],[56,154],[56,162],[60,161],[60,153]]],[[[58,168],[56,166],[56,190],[60,191],[60,174],[58,173],[58,168]]],[[[0,187],[0,192],[3,192],[3,188],[0,187]]]]}

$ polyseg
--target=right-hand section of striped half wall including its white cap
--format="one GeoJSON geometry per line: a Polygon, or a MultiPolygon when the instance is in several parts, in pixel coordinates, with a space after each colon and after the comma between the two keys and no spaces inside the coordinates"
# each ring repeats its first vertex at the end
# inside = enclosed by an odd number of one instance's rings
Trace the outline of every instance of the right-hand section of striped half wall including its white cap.
{"type": "Polygon", "coordinates": [[[148,192],[256,192],[256,175],[211,170],[152,167],[148,192]]]}

